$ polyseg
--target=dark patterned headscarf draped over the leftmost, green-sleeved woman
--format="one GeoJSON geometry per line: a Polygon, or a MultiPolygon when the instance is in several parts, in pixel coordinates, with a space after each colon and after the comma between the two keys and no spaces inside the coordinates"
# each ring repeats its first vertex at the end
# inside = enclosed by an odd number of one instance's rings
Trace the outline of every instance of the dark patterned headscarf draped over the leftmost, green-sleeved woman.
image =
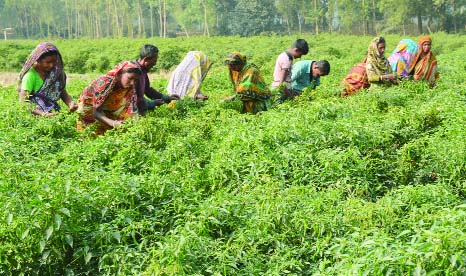
{"type": "MultiPolygon", "coordinates": [[[[56,103],[60,99],[61,92],[66,86],[66,74],[63,70],[63,59],[58,48],[50,42],[42,42],[36,46],[31,52],[23,68],[19,73],[17,91],[21,91],[21,82],[24,75],[31,69],[31,67],[39,60],[39,58],[47,52],[57,52],[57,63],[55,68],[50,72],[47,79],[44,80],[42,87],[36,91],[34,95],[30,96],[30,100],[36,103],[37,108],[43,112],[50,112],[52,109],[59,109],[60,106],[56,103]]],[[[32,91],[30,91],[32,92],[32,91]]]]}

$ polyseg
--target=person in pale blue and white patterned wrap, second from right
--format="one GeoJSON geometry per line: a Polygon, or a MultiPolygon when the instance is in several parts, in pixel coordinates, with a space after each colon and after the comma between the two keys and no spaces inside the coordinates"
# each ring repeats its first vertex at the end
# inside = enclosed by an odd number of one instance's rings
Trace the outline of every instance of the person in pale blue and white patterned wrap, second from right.
{"type": "Polygon", "coordinates": [[[388,62],[393,72],[396,72],[396,75],[401,78],[408,78],[409,67],[418,51],[419,47],[417,43],[411,39],[404,38],[398,42],[395,50],[393,50],[392,54],[388,57],[388,62]]]}

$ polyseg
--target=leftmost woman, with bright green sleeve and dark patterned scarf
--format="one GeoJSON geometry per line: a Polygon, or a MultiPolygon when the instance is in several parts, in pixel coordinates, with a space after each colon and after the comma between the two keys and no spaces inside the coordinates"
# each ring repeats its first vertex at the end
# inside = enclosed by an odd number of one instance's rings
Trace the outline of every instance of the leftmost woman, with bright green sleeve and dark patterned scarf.
{"type": "Polygon", "coordinates": [[[57,47],[43,42],[31,52],[19,73],[18,93],[20,101],[29,101],[32,114],[52,116],[60,110],[62,99],[71,112],[78,106],[66,92],[66,74],[57,47]]]}

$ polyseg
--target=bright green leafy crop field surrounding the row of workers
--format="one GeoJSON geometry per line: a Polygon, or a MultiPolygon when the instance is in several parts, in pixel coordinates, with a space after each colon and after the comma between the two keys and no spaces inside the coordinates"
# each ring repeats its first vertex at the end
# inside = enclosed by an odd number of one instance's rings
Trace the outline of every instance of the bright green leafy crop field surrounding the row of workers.
{"type": "MultiPolygon", "coordinates": [[[[271,82],[295,36],[53,41],[67,72],[91,73],[69,81],[74,98],[143,43],[160,47],[159,69],[205,51],[211,98],[93,137],[76,114],[33,117],[0,88],[0,274],[464,275],[464,36],[433,35],[434,89],[348,98],[339,83],[371,37],[303,37],[330,76],[257,116],[220,101],[232,94],[222,60],[241,50],[271,82]]],[[[1,42],[9,70],[37,42],[1,42]]]]}

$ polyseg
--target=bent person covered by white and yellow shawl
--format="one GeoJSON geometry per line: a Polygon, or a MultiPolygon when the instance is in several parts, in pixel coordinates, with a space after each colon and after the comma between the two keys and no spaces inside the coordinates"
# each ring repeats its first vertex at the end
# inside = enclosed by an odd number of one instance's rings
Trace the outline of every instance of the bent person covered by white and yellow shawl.
{"type": "Polygon", "coordinates": [[[181,99],[187,96],[193,99],[207,100],[209,96],[202,94],[200,88],[211,66],[212,61],[203,52],[188,52],[168,81],[167,91],[169,95],[181,99]]]}

